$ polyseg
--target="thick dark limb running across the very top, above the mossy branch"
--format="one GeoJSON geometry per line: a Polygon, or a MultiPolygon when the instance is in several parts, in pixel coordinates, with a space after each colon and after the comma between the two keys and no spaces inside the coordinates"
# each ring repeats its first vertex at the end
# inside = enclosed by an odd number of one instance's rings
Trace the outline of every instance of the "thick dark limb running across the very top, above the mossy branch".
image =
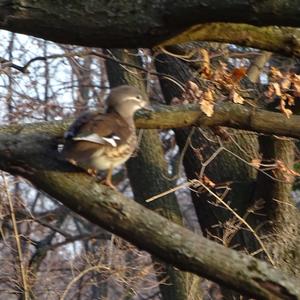
{"type": "Polygon", "coordinates": [[[300,27],[299,15],[299,0],[0,1],[2,29],[103,48],[152,47],[211,22],[300,27]]]}

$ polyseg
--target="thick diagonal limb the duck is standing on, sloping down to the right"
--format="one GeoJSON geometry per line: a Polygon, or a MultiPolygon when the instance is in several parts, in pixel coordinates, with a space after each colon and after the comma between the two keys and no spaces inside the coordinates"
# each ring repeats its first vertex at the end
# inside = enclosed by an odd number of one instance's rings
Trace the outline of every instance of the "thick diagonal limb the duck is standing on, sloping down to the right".
{"type": "Polygon", "coordinates": [[[59,126],[0,129],[0,168],[21,175],[91,222],[174,266],[257,299],[300,299],[298,281],[169,222],[59,159],[59,126]]]}

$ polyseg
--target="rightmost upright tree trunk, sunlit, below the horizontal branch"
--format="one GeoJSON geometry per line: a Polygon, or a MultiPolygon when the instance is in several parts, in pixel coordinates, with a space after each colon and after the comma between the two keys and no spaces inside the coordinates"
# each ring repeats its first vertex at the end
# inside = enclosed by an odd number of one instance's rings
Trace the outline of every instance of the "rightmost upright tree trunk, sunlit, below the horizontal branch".
{"type": "Polygon", "coordinates": [[[269,237],[265,243],[276,266],[300,276],[300,214],[291,194],[295,144],[287,138],[262,136],[260,149],[262,164],[274,166],[257,179],[255,199],[265,203],[261,231],[269,237]]]}

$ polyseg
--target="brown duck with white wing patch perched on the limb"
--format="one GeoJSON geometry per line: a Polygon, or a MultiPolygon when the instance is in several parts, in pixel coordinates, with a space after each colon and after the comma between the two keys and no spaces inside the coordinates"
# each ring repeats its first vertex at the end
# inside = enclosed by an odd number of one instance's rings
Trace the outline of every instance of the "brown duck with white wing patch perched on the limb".
{"type": "Polygon", "coordinates": [[[131,86],[111,90],[107,110],[86,112],[65,133],[63,157],[90,174],[109,170],[105,183],[111,183],[112,169],[129,159],[136,147],[133,116],[146,106],[141,93],[131,86]]]}

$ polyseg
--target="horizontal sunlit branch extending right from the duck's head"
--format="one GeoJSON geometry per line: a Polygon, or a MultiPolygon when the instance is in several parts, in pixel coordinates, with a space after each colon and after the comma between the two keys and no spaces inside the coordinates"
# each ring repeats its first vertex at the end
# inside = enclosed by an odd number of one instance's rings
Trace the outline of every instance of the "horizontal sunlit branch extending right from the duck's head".
{"type": "Polygon", "coordinates": [[[140,113],[139,128],[180,128],[185,126],[226,126],[266,134],[300,138],[300,116],[289,119],[282,113],[255,109],[246,105],[222,102],[212,117],[200,111],[199,105],[160,106],[156,112],[140,113]]]}

